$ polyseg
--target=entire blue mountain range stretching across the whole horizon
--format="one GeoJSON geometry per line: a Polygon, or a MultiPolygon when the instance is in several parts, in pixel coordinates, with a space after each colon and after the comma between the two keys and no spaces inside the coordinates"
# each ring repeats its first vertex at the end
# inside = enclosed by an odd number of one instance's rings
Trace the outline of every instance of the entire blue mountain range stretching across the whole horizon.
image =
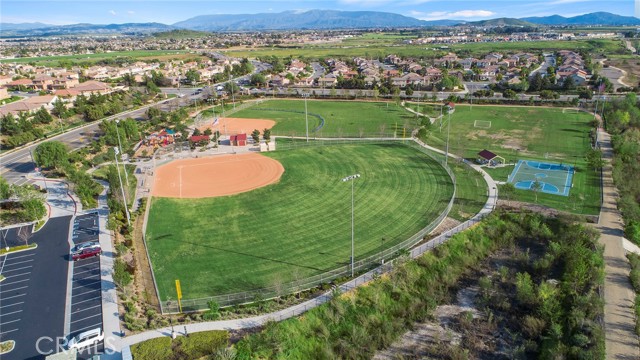
{"type": "Polygon", "coordinates": [[[466,22],[462,20],[425,21],[412,17],[377,11],[309,10],[305,12],[285,11],[280,13],[201,15],[172,25],[161,23],[129,24],[73,24],[49,25],[43,23],[0,23],[1,37],[16,36],[61,36],[77,34],[151,34],[174,29],[199,31],[268,31],[304,29],[366,29],[366,28],[415,28],[453,26],[459,24],[476,26],[619,26],[640,25],[640,19],[607,12],[596,12],[574,17],[552,15],[521,19],[499,18],[466,22]]]}

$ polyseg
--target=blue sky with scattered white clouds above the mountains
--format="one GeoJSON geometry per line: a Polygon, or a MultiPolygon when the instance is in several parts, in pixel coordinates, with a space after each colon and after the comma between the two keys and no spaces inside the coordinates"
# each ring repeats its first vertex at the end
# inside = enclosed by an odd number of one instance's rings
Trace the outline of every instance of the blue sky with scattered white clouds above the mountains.
{"type": "Polygon", "coordinates": [[[2,0],[0,22],[47,24],[173,24],[197,15],[244,14],[334,9],[387,11],[423,20],[483,20],[559,14],[575,16],[595,11],[638,16],[640,0],[2,0]]]}

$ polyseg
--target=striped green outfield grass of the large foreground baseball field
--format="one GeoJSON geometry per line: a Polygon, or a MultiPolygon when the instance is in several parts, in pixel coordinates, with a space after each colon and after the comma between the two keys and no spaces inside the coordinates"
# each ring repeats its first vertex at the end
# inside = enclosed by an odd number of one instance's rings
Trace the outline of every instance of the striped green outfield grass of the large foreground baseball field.
{"type": "Polygon", "coordinates": [[[268,153],[277,184],[210,199],[153,198],[147,243],[162,300],[274,286],[349,263],[354,173],[355,257],[373,256],[433,221],[453,186],[427,155],[401,144],[268,153]],[[384,239],[384,240],[383,240],[384,239]]]}

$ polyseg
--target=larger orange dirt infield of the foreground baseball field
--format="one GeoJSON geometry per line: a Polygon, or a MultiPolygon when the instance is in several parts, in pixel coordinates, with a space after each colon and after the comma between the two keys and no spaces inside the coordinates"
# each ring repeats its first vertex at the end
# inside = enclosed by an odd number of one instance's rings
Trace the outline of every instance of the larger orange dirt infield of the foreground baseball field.
{"type": "Polygon", "coordinates": [[[260,154],[172,161],[156,169],[153,196],[205,198],[251,191],[280,180],[282,164],[260,154]]]}

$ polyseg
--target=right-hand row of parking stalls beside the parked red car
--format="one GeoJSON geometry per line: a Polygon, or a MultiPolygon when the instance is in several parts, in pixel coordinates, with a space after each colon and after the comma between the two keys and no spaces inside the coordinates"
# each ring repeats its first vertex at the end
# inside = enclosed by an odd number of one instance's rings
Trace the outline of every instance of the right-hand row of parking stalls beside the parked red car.
{"type": "MultiPolygon", "coordinates": [[[[73,224],[74,245],[98,241],[98,215],[91,213],[76,217],[73,224]]],[[[100,279],[100,257],[75,261],[71,281],[71,319],[69,335],[75,336],[83,331],[102,328],[102,286],[100,279]]],[[[90,357],[103,350],[87,348],[81,356],[90,357]]]]}

